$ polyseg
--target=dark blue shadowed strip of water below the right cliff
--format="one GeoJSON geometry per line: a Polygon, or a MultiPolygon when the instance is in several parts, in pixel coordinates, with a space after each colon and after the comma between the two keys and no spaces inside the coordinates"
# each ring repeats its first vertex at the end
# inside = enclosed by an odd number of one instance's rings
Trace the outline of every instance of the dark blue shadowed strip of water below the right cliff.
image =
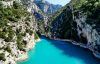
{"type": "Polygon", "coordinates": [[[42,36],[41,38],[47,39],[56,48],[61,49],[64,55],[69,55],[75,58],[82,59],[87,64],[100,64],[100,59],[94,57],[92,52],[88,49],[73,45],[71,42],[50,40],[44,36],[42,36]]]}

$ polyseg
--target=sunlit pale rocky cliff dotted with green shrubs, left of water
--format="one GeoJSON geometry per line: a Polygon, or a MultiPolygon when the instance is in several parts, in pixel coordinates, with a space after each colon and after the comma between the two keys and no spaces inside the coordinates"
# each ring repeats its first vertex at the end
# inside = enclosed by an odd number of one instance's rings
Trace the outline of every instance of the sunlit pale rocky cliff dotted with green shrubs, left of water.
{"type": "Polygon", "coordinates": [[[34,43],[37,39],[31,3],[32,0],[0,1],[0,64],[16,64],[17,58],[27,55],[30,40],[34,43]]]}

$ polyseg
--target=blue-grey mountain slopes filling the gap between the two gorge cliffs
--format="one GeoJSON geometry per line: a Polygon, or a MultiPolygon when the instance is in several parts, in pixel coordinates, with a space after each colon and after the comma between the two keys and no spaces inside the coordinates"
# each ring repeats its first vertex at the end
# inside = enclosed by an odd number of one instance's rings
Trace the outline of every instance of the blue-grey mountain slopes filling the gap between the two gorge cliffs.
{"type": "Polygon", "coordinates": [[[38,32],[44,33],[49,17],[61,7],[61,5],[50,4],[45,0],[34,0],[32,13],[38,23],[38,32]]]}

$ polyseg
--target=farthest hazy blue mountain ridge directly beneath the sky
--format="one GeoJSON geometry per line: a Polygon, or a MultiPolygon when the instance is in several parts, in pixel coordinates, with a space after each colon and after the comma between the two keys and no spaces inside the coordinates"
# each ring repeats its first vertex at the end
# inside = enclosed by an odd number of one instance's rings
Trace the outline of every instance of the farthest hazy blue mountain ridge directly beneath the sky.
{"type": "Polygon", "coordinates": [[[60,9],[61,5],[54,5],[50,4],[47,1],[44,0],[35,0],[34,3],[46,14],[51,15],[55,13],[58,9],[60,9]]]}

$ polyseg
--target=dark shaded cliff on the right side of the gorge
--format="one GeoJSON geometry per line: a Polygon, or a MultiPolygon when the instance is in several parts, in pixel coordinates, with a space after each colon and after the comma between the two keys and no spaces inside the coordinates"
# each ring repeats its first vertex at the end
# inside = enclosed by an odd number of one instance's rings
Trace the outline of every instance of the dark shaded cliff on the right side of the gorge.
{"type": "Polygon", "coordinates": [[[99,4],[99,0],[72,0],[50,20],[46,35],[76,41],[100,58],[99,4]]]}

